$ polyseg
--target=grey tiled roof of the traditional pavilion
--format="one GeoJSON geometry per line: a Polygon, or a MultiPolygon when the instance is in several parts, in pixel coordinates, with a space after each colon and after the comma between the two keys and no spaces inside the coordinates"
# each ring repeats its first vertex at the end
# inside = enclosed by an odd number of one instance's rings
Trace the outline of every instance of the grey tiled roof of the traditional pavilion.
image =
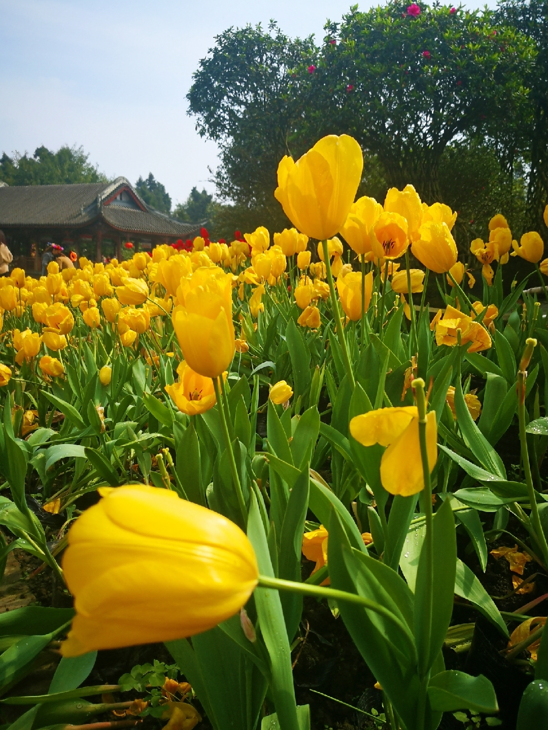
{"type": "Polygon", "coordinates": [[[153,210],[125,177],[113,183],[0,187],[0,228],[79,228],[95,220],[104,220],[119,231],[171,237],[191,236],[200,226],[153,210]],[[129,188],[137,202],[115,204],[113,196],[121,188],[129,188]]]}

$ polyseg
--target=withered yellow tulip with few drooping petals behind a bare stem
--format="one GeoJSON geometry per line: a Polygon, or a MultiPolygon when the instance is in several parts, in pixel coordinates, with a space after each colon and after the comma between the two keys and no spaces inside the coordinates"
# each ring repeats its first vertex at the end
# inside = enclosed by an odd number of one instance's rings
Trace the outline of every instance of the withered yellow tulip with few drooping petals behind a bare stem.
{"type": "MultiPolygon", "coordinates": [[[[426,445],[432,472],[438,458],[438,426],[435,412],[427,414],[426,445]]],[[[381,408],[355,416],[350,433],[364,446],[386,446],[381,458],[381,483],[387,492],[409,496],[425,487],[416,406],[381,408]]]]}

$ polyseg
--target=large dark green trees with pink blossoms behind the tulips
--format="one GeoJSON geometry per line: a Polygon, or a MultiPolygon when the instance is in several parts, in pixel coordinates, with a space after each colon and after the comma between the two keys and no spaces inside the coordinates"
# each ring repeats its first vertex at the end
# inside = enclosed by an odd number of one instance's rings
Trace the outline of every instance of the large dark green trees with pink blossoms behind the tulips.
{"type": "Polygon", "coordinates": [[[200,61],[187,98],[199,134],[220,147],[218,234],[286,225],[278,162],[343,132],[364,151],[361,194],[382,201],[412,183],[459,212],[463,240],[499,211],[516,234],[543,231],[548,0],[473,12],[391,1],[324,27],[319,45],[275,23],[229,28],[200,61]]]}

